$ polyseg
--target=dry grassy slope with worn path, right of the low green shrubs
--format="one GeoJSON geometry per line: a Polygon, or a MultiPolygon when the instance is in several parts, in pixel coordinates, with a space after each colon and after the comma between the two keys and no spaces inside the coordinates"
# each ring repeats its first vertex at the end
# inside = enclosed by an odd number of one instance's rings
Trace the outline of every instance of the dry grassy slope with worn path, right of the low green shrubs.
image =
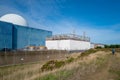
{"type": "Polygon", "coordinates": [[[120,54],[98,51],[36,80],[119,80],[120,54]]]}

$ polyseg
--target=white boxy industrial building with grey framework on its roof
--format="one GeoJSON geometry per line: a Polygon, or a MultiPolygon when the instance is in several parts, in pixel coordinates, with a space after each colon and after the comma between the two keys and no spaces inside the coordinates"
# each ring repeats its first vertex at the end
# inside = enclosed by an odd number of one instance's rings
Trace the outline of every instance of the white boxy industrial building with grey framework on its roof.
{"type": "Polygon", "coordinates": [[[54,35],[46,39],[46,47],[55,50],[88,50],[90,38],[75,34],[54,35]]]}

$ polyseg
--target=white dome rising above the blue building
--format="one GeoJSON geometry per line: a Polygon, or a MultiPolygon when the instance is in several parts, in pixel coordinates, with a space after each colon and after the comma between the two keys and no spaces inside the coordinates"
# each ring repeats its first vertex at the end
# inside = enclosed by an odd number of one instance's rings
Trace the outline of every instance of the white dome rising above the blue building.
{"type": "Polygon", "coordinates": [[[17,14],[6,14],[0,18],[0,21],[10,22],[16,25],[27,26],[27,21],[17,14]]]}

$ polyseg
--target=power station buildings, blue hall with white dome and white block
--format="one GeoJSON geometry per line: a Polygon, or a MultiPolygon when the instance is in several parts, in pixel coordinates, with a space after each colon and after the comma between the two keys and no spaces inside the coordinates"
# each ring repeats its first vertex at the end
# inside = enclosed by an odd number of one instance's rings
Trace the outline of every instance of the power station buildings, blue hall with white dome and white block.
{"type": "MultiPolygon", "coordinates": [[[[6,14],[0,18],[0,50],[88,50],[95,44],[85,33],[52,35],[51,31],[28,26],[27,21],[17,14],[6,14]]],[[[103,45],[104,46],[104,45],[103,45]]]]}

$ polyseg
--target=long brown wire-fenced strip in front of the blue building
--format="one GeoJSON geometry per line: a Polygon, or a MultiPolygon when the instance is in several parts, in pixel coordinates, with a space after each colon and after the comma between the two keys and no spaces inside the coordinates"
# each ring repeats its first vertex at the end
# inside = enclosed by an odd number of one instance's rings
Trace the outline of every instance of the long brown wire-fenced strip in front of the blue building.
{"type": "Polygon", "coordinates": [[[0,66],[25,64],[51,59],[64,59],[68,51],[44,50],[44,51],[1,51],[0,66]]]}

